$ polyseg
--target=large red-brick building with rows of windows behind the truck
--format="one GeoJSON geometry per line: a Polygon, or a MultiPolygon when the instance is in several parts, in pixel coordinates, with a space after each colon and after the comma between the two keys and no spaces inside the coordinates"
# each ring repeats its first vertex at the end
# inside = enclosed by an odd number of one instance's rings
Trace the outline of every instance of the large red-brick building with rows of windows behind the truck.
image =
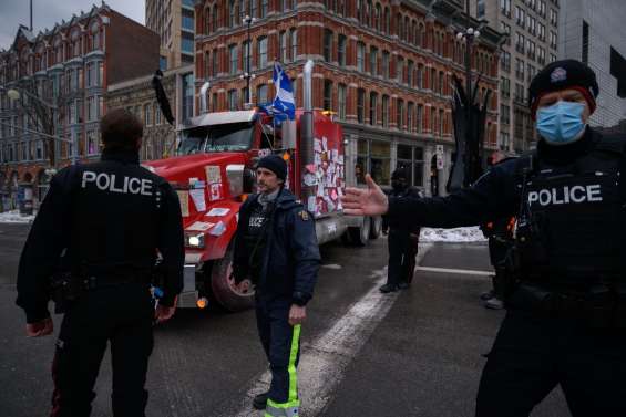
{"type": "MultiPolygon", "coordinates": [[[[252,102],[274,96],[271,66],[278,60],[301,106],[302,66],[311,59],[314,107],[333,111],[343,125],[348,178],[360,183],[369,171],[389,185],[390,173],[406,166],[413,185],[439,194],[454,147],[452,74],[464,79],[465,45],[455,38],[466,24],[462,10],[460,0],[197,1],[196,86],[212,83],[212,111],[242,108],[249,54],[252,102]],[[255,18],[249,44],[246,15],[255,18]],[[437,145],[443,147],[442,170],[437,145]]],[[[471,24],[483,33],[471,54],[472,69],[480,74],[480,94],[494,93],[485,146],[495,148],[501,35],[474,19],[471,24]]]]}

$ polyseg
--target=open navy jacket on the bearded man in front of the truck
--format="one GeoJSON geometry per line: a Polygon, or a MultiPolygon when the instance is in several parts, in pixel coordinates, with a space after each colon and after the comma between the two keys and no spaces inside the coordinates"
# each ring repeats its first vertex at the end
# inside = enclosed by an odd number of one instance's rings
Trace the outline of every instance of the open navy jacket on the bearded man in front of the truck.
{"type": "MultiPolygon", "coordinates": [[[[257,199],[258,195],[253,195],[239,208],[233,254],[237,282],[250,275],[250,253],[246,250],[244,234],[257,199]]],[[[290,298],[293,303],[305,305],[312,298],[321,260],[315,221],[287,189],[280,191],[275,204],[270,227],[265,231],[257,291],[268,299],[290,298]]]]}

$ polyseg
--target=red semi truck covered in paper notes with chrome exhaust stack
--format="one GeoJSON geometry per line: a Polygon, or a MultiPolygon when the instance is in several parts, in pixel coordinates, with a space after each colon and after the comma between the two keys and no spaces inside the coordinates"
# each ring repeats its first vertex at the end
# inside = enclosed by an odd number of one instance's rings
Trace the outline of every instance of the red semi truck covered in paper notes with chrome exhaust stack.
{"type": "Polygon", "coordinates": [[[252,284],[234,285],[230,277],[233,239],[239,206],[255,191],[254,167],[267,154],[287,161],[286,187],[314,215],[320,244],[343,236],[366,244],[379,236],[380,218],[342,213],[348,160],[342,131],[329,115],[311,111],[311,72],[309,62],[305,108],[295,121],[276,126],[273,115],[257,108],[205,113],[184,123],[175,157],[145,164],[181,199],[186,249],[179,306],[204,307],[209,299],[230,311],[253,305],[252,284]]]}

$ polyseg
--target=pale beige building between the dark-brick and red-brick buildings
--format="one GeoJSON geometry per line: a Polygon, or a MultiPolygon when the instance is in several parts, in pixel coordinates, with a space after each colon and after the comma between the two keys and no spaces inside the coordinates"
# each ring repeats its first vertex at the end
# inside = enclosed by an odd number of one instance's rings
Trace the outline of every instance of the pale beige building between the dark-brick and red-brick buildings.
{"type": "Polygon", "coordinates": [[[163,90],[170,100],[174,126],[167,123],[156,102],[152,75],[109,85],[105,96],[107,108],[126,108],[144,124],[143,146],[140,154],[142,160],[172,155],[176,126],[193,115],[193,90],[187,93],[189,88],[185,88],[186,84],[193,88],[193,73],[194,66],[187,65],[165,71],[163,74],[163,90]]]}

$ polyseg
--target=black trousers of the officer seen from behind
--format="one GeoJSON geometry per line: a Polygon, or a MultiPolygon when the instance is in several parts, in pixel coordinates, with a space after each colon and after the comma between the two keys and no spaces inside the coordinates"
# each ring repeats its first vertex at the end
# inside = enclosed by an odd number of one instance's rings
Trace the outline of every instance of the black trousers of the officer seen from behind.
{"type": "Polygon", "coordinates": [[[143,417],[153,347],[154,307],[147,285],[120,284],[83,293],[63,319],[52,365],[52,417],[86,417],[111,342],[115,417],[143,417]]]}

